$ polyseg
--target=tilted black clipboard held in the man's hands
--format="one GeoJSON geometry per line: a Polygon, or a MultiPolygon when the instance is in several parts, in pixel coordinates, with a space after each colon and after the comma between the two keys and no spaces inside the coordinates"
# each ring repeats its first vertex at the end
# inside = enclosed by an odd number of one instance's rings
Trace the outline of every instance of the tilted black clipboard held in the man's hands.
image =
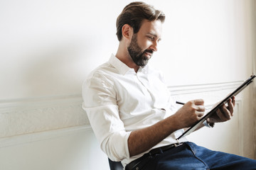
{"type": "Polygon", "coordinates": [[[178,141],[179,139],[181,139],[181,137],[185,137],[186,135],[191,134],[191,132],[196,130],[205,120],[207,120],[210,117],[210,115],[213,115],[213,113],[215,113],[218,110],[218,108],[220,108],[220,106],[223,105],[223,103],[227,103],[229,98],[231,98],[232,96],[236,96],[243,89],[245,89],[245,87],[247,87],[249,84],[251,84],[255,77],[256,77],[255,75],[252,75],[249,79],[247,79],[245,82],[243,82],[237,89],[235,89],[235,91],[233,91],[231,94],[229,94],[227,97],[225,97],[223,99],[223,101],[220,101],[220,103],[218,103],[217,106],[212,108],[206,115],[203,116],[203,118],[201,118],[195,124],[193,124],[191,126],[191,128],[188,128],[188,130],[183,132],[183,134],[181,136],[179,136],[176,140],[178,141]]]}

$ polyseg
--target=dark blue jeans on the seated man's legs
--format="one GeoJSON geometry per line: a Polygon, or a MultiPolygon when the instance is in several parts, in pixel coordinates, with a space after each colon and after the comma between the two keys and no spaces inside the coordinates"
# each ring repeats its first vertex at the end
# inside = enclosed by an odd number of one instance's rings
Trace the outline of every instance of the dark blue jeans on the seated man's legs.
{"type": "Polygon", "coordinates": [[[249,170],[256,169],[256,160],[235,154],[215,152],[199,147],[193,142],[185,142],[162,154],[156,154],[143,167],[144,170],[249,170]]]}

